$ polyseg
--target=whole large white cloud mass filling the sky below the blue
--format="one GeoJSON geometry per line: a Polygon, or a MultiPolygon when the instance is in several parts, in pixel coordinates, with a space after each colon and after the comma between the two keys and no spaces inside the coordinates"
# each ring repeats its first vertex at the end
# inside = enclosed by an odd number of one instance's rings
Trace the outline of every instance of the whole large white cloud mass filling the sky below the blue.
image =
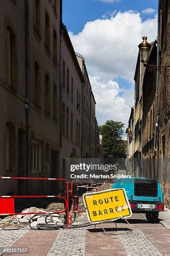
{"type": "Polygon", "coordinates": [[[144,35],[148,36],[148,42],[155,40],[157,18],[142,22],[140,13],[133,11],[87,22],[76,35],[70,32],[75,51],[85,58],[100,124],[108,119],[128,123],[130,108],[134,105],[138,44],[144,35]],[[116,77],[128,80],[132,87],[122,90],[114,81],[116,77]]]}

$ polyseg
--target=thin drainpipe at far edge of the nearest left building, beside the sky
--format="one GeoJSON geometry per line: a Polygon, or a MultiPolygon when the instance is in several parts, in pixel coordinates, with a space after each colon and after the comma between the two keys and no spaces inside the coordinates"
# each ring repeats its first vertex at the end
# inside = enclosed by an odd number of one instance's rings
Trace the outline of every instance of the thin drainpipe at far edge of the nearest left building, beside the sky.
{"type": "Polygon", "coordinates": [[[62,1],[60,1],[60,148],[62,148],[62,1]]]}

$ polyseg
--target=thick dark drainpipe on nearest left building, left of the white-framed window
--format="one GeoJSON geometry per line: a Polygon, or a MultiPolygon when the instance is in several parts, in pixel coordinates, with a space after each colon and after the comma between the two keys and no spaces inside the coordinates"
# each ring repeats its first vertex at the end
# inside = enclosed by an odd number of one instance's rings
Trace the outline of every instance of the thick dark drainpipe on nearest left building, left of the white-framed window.
{"type": "MultiPolygon", "coordinates": [[[[30,129],[30,38],[29,38],[29,0],[26,3],[26,95],[25,95],[25,114],[26,114],[26,177],[30,176],[30,143],[29,143],[29,129],[30,129]]],[[[29,182],[25,184],[26,194],[29,193],[29,182]]]]}

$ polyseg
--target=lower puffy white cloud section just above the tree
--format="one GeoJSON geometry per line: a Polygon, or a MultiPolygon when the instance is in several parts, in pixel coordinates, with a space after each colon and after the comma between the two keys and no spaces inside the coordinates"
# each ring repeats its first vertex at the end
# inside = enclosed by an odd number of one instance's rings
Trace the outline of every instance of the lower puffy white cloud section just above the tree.
{"type": "Polygon", "coordinates": [[[130,114],[134,99],[133,88],[122,89],[117,82],[112,80],[105,82],[101,77],[90,76],[90,82],[97,102],[96,115],[99,124],[105,123],[106,120],[119,120],[125,123],[126,128],[127,113],[130,114]]]}

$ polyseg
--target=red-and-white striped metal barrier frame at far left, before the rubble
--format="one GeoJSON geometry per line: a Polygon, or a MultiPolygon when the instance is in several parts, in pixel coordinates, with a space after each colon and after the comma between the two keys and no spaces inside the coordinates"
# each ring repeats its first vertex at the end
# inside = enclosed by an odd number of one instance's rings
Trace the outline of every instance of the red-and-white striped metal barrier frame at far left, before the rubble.
{"type": "MultiPolygon", "coordinates": [[[[25,196],[25,195],[20,195],[20,196],[0,196],[0,198],[18,198],[18,197],[60,197],[60,198],[62,198],[64,201],[65,201],[65,209],[64,210],[62,210],[62,211],[57,211],[57,212],[47,212],[47,213],[62,213],[62,212],[65,212],[66,210],[67,210],[67,226],[69,226],[69,223],[70,223],[70,221],[69,221],[69,196],[68,196],[68,194],[69,194],[69,192],[70,192],[70,190],[69,190],[69,188],[68,188],[68,182],[67,182],[67,180],[66,179],[55,179],[55,178],[31,178],[31,177],[2,177],[2,176],[0,176],[0,179],[38,179],[38,180],[62,180],[62,181],[65,181],[66,182],[66,187],[67,187],[67,199],[65,199],[65,197],[62,197],[62,196],[57,196],[57,195],[52,195],[52,196],[48,196],[48,195],[46,195],[46,196],[42,196],[42,195],[40,195],[40,196],[37,196],[37,195],[35,195],[35,196],[25,196]]],[[[39,212],[20,212],[20,213],[15,213],[15,212],[13,212],[13,213],[2,213],[2,214],[0,214],[0,215],[26,215],[26,214],[38,214],[39,212]]],[[[46,213],[46,212],[41,212],[41,214],[43,214],[43,213],[46,213]]]]}

